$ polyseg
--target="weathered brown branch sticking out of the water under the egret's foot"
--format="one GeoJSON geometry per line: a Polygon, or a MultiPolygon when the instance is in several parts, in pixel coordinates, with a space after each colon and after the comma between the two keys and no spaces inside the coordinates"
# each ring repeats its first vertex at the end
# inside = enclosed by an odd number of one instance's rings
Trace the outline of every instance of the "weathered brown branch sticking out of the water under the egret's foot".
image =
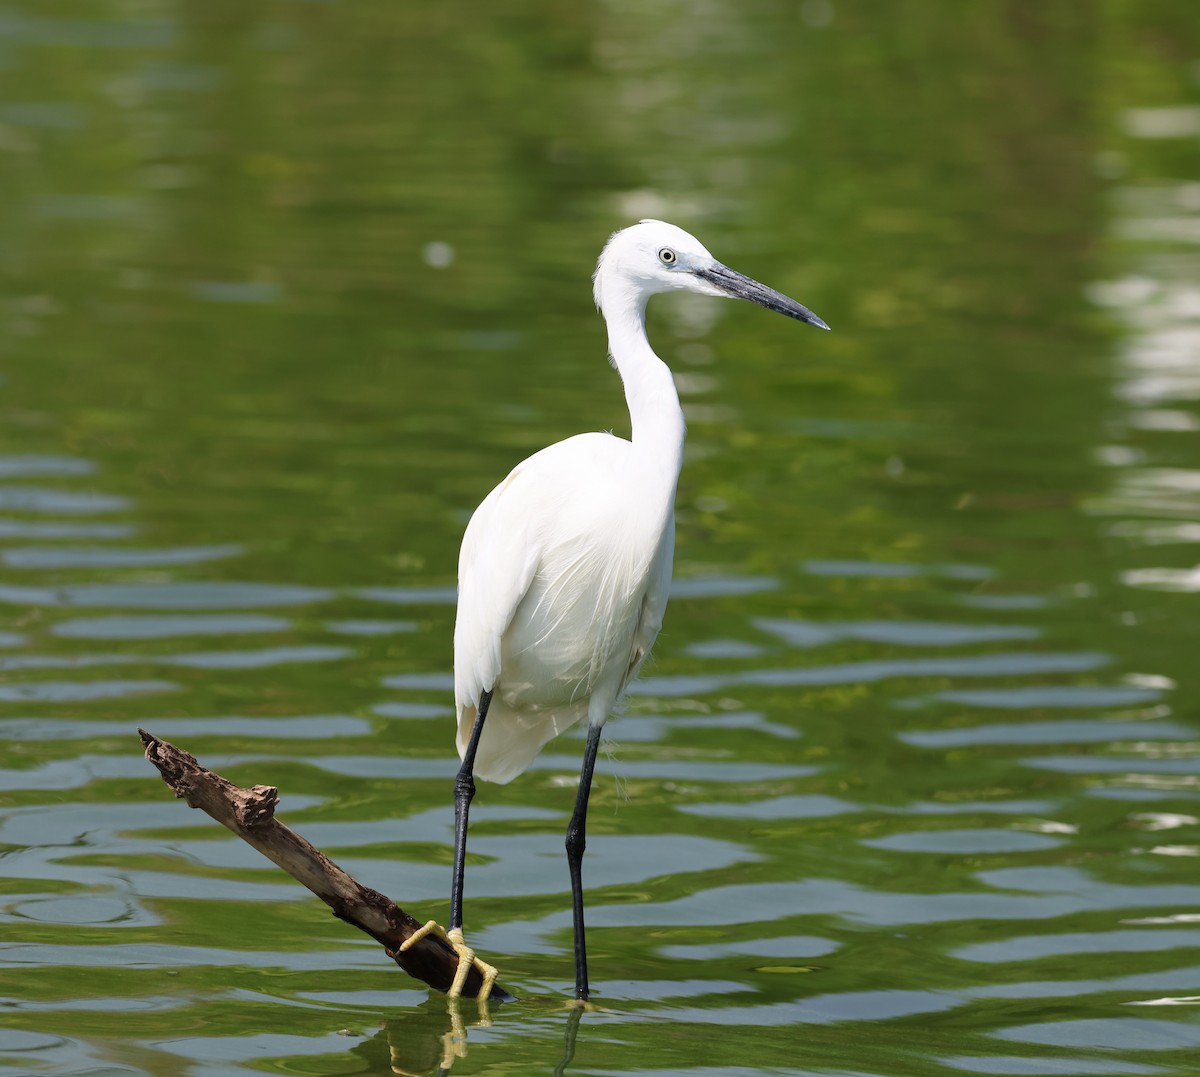
{"type": "MultiPolygon", "coordinates": [[[[158,768],[162,780],[175,796],[228,826],[238,837],[307,886],[334,910],[335,916],[379,943],[388,956],[410,976],[437,991],[450,987],[458,965],[455,951],[443,939],[426,935],[412,949],[401,952],[400,945],[421,922],[377,890],[356,883],[324,853],[280,823],[275,818],[278,789],[274,786],[242,789],[202,766],[188,752],[160,740],[145,729],[139,729],[138,733],[142,734],[146,759],[158,768]]],[[[482,982],[479,969],[472,968],[467,974],[463,994],[476,995],[482,982]]],[[[490,998],[502,1001],[512,995],[499,985],[493,985],[490,998]]]]}

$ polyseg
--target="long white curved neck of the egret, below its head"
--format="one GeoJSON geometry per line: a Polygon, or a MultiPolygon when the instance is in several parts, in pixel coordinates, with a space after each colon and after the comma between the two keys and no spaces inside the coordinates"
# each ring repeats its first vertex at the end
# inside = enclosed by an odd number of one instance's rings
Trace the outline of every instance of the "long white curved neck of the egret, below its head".
{"type": "Polygon", "coordinates": [[[608,325],[608,354],[625,385],[634,449],[673,493],[686,428],[671,371],[646,336],[646,295],[619,278],[598,284],[600,313],[608,325]]]}

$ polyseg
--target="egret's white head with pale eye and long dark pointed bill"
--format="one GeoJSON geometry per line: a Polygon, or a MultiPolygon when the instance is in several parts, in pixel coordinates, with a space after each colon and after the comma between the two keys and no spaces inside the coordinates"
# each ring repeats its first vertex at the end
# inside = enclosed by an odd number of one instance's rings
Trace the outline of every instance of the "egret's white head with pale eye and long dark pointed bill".
{"type": "Polygon", "coordinates": [[[642,302],[659,291],[698,291],[744,299],[818,329],[829,329],[808,307],[722,265],[694,235],[665,221],[642,221],[614,233],[596,265],[596,306],[608,288],[632,291],[642,302]]]}

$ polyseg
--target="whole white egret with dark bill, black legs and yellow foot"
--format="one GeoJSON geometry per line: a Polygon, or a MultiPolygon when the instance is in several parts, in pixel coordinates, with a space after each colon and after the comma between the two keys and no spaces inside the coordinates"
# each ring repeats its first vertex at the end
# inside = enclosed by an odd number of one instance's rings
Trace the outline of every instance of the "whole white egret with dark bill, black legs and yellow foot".
{"type": "MultiPolygon", "coordinates": [[[[680,228],[642,221],[600,254],[595,301],[625,386],[632,437],[577,434],[517,464],[475,510],[458,556],[455,860],[446,938],[458,952],[450,994],[474,962],[487,998],[496,970],[462,933],[473,775],[509,782],[551,738],[588,720],[566,830],[575,923],[575,994],[588,997],[581,867],[600,730],[637,675],[667,604],[684,419],[667,365],[646,336],[659,291],[750,300],[828,329],[808,307],[719,263],[680,228]]],[[[426,931],[438,931],[434,923],[426,931]]],[[[415,941],[415,937],[413,939],[415,941]]]]}

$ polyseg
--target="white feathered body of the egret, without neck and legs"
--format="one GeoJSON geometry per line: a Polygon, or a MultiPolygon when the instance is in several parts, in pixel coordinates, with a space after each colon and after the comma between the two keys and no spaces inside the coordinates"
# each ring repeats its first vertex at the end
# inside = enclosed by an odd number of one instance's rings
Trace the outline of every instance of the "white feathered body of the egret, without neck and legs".
{"type": "Polygon", "coordinates": [[[458,560],[455,702],[462,754],[494,687],[479,777],[511,781],[581,718],[604,722],[654,644],[678,468],[659,488],[638,474],[634,444],[578,434],[518,464],[475,511],[458,560]]]}

